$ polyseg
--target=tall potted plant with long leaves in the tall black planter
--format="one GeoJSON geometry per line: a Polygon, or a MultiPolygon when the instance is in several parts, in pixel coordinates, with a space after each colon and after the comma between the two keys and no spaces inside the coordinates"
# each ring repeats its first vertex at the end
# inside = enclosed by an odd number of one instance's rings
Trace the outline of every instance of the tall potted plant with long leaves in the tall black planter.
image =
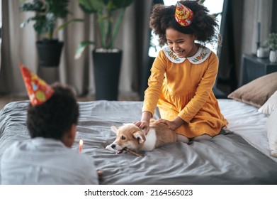
{"type": "MultiPolygon", "coordinates": [[[[86,14],[95,14],[98,22],[101,46],[92,51],[96,83],[96,99],[117,100],[122,50],[115,48],[125,9],[134,0],[78,0],[86,14]]],[[[94,41],[82,41],[75,58],[79,58],[94,41]]]]}

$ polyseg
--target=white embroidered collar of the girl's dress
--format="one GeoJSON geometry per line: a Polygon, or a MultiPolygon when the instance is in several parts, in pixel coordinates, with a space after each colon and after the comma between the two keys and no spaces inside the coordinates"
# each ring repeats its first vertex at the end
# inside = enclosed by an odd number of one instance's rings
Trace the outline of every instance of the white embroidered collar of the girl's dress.
{"type": "Polygon", "coordinates": [[[166,57],[173,63],[183,63],[186,59],[188,59],[190,63],[200,64],[203,63],[211,53],[211,50],[203,45],[200,45],[197,53],[189,58],[179,58],[176,53],[170,50],[169,47],[165,47],[162,50],[164,50],[166,57]]]}

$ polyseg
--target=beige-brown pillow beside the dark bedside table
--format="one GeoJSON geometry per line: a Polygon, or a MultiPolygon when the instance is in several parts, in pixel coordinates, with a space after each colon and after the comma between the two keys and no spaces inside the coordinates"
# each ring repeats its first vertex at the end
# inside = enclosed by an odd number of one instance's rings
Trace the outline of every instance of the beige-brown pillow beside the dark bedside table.
{"type": "Polygon", "coordinates": [[[227,97],[259,108],[266,103],[267,99],[271,97],[276,90],[277,72],[273,72],[239,87],[227,97]]]}

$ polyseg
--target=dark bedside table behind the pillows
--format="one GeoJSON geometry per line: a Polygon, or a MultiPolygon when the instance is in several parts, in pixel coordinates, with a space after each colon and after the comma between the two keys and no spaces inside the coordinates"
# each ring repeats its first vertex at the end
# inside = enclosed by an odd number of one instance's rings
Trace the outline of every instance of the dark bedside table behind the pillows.
{"type": "Polygon", "coordinates": [[[239,87],[271,72],[277,72],[277,63],[271,63],[268,58],[243,54],[239,87]]]}

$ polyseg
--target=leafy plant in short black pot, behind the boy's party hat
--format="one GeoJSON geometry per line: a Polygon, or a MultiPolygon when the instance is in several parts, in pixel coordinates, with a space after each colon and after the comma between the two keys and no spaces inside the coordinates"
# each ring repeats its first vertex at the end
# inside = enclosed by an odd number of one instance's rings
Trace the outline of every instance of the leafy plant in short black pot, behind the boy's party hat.
{"type": "Polygon", "coordinates": [[[60,64],[63,42],[54,38],[54,33],[58,18],[65,18],[69,14],[68,2],[69,0],[23,1],[19,7],[20,11],[35,13],[35,16],[31,16],[21,23],[21,28],[31,21],[35,21],[33,24],[35,32],[38,33],[38,36],[44,36],[42,40],[36,42],[41,66],[58,66],[60,64]]]}

